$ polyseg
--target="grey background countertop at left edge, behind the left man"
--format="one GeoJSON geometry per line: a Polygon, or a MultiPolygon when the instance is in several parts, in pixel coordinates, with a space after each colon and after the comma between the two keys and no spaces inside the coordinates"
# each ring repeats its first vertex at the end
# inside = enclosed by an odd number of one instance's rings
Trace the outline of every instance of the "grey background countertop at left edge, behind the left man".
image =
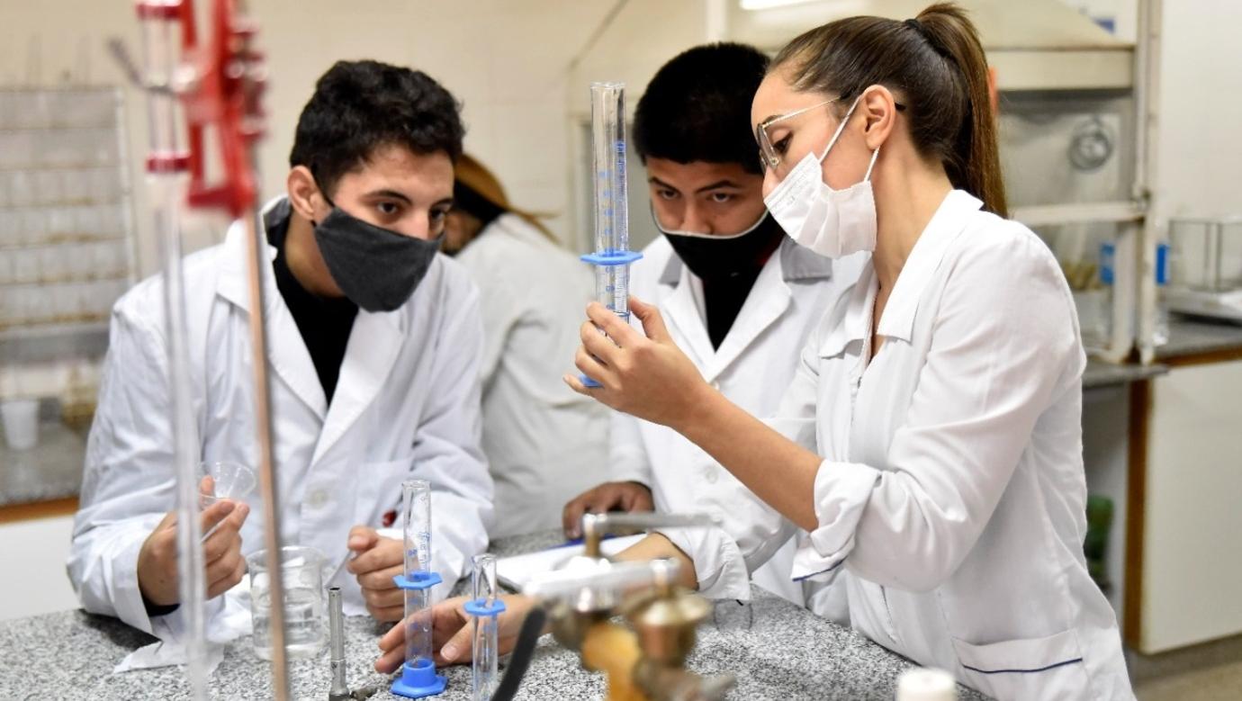
{"type": "Polygon", "coordinates": [[[60,421],[42,421],[30,450],[0,440],[0,507],[78,496],[86,440],[60,421]]]}

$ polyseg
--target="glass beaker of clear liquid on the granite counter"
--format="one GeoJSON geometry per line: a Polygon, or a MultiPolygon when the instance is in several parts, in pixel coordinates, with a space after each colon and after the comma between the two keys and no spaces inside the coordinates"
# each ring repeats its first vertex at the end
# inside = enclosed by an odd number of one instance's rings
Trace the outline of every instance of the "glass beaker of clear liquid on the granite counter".
{"type": "MultiPolygon", "coordinates": [[[[284,643],[291,660],[318,655],[328,640],[324,621],[323,553],[302,546],[281,548],[284,578],[284,643]]],[[[246,558],[250,569],[250,613],[255,623],[255,654],[272,659],[272,599],[267,551],[246,558]]]]}

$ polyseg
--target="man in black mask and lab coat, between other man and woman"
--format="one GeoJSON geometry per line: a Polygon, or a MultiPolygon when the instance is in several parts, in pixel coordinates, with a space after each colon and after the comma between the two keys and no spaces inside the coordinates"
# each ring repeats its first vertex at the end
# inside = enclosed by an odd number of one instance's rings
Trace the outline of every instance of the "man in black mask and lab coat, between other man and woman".
{"type": "MultiPolygon", "coordinates": [[[[631,267],[631,293],[657,305],[703,377],[758,416],[775,413],[807,334],[861,267],[795,245],[764,208],[750,98],[766,65],[749,46],[692,48],[656,73],[633,119],[664,235],[631,267]]],[[[789,575],[791,527],[692,442],[616,413],[610,464],[611,482],[566,505],[568,534],[578,534],[584,512],[652,502],[661,512],[705,512],[722,526],[663,532],[694,561],[703,594],[749,599],[738,577],[722,577],[741,570],[804,603],[789,575]]],[[[656,544],[640,543],[633,554],[656,554],[656,544]]]]}

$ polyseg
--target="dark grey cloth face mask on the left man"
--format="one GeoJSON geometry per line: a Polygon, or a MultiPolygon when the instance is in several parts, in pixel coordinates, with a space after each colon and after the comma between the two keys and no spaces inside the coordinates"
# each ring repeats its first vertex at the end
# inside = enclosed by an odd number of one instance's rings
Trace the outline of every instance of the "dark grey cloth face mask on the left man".
{"type": "Polygon", "coordinates": [[[391,312],[404,305],[427,275],[442,239],[402,236],[337,206],[312,224],[337,287],[368,312],[391,312]]]}

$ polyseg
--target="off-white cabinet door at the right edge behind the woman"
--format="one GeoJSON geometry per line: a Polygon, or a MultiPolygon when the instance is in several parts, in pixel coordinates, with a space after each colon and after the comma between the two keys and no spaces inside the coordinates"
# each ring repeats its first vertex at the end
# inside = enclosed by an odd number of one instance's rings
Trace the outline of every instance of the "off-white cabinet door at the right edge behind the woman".
{"type": "Polygon", "coordinates": [[[1141,653],[1242,633],[1240,398],[1242,360],[1174,367],[1151,380],[1141,653]]]}

